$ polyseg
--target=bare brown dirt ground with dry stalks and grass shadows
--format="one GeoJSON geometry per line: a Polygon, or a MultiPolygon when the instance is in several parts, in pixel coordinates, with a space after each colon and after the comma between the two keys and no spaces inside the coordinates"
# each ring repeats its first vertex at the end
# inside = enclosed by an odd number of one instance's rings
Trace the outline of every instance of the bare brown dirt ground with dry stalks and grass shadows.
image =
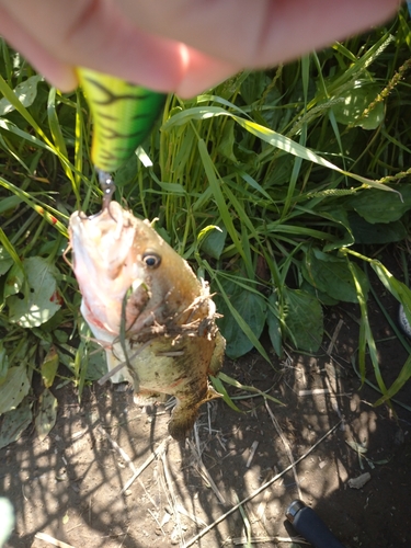
{"type": "MultiPolygon", "coordinates": [[[[396,304],[387,306],[396,317],[396,304]]],[[[169,410],[137,407],[129,390],[94,384],[81,404],[73,388],[55,390],[59,411],[49,436],[39,442],[27,429],[0,450],[0,493],[16,513],[7,546],[48,548],[38,538],[46,534],[76,548],[219,548],[247,546],[248,536],[255,548],[302,547],[292,544],[296,533],[284,515],[300,498],[346,548],[410,547],[411,413],[398,404],[373,408],[378,393],[361,389],[351,365],[358,313],[354,305],[329,310],[316,356],[226,361],[227,375],[284,406],[231,389],[243,412],[208,403],[185,444],[168,439],[169,410]],[[349,480],[365,472],[369,481],[351,488],[349,480]]],[[[370,317],[389,384],[408,356],[381,312],[372,309],[370,317]]],[[[411,403],[411,384],[397,399],[411,403]]]]}

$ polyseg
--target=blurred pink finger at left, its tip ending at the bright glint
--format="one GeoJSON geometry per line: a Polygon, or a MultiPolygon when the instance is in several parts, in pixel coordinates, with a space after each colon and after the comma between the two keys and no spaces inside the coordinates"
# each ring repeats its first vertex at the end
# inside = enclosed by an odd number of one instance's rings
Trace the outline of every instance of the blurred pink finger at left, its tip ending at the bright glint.
{"type": "Polygon", "coordinates": [[[38,0],[33,10],[32,0],[0,0],[0,9],[16,34],[3,21],[0,32],[54,83],[65,83],[65,66],[85,66],[158,91],[174,91],[183,78],[185,48],[124,20],[112,2],[38,0]]]}

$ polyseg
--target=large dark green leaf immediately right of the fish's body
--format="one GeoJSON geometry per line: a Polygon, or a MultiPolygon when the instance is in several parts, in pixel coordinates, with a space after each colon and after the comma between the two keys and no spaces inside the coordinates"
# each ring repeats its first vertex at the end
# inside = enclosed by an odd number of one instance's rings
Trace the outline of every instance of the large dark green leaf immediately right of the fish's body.
{"type": "Polygon", "coordinates": [[[248,338],[247,330],[240,328],[236,315],[240,317],[244,328],[247,327],[258,341],[265,324],[266,305],[261,295],[244,289],[231,279],[221,279],[220,285],[230,306],[221,296],[216,297],[218,312],[224,315],[217,321],[221,334],[227,341],[226,353],[235,359],[247,354],[255,345],[255,342],[248,338]]]}

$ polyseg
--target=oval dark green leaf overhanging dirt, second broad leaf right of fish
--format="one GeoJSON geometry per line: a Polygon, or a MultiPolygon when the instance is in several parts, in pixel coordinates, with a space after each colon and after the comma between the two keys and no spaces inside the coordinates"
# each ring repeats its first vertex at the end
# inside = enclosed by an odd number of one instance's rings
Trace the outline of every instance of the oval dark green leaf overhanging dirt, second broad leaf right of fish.
{"type": "Polygon", "coordinates": [[[285,322],[298,350],[317,352],[322,342],[322,308],[316,297],[301,289],[283,289],[285,322]]]}

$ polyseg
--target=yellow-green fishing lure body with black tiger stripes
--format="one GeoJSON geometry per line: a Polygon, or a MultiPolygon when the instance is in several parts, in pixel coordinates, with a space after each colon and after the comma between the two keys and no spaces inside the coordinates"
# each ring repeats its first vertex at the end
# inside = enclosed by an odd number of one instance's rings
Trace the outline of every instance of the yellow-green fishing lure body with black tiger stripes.
{"type": "Polygon", "coordinates": [[[92,162],[98,171],[116,171],[150,133],[165,95],[95,70],[77,71],[94,119],[92,162]]]}

